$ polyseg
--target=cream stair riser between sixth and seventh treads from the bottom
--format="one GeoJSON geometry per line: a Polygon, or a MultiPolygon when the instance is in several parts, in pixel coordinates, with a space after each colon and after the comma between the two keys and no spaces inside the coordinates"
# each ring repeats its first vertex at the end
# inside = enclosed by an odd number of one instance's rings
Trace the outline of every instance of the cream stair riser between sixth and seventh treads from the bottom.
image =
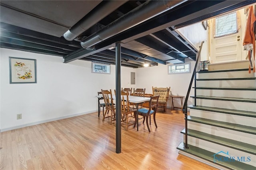
{"type": "Polygon", "coordinates": [[[256,87],[256,80],[205,80],[197,81],[197,87],[256,87]]]}

